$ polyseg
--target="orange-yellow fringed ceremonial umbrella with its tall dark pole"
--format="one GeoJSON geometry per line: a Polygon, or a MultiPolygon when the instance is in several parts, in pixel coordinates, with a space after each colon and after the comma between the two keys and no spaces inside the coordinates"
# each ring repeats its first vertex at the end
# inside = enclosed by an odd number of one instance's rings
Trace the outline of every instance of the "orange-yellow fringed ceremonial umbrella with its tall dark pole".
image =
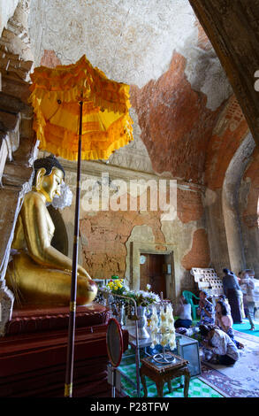
{"type": "Polygon", "coordinates": [[[77,160],[77,190],[72,256],[71,302],[65,372],[65,397],[72,397],[76,314],[81,159],[107,159],[133,140],[129,86],[109,80],[83,56],[76,64],[39,66],[31,75],[29,102],[39,148],[77,160]]]}

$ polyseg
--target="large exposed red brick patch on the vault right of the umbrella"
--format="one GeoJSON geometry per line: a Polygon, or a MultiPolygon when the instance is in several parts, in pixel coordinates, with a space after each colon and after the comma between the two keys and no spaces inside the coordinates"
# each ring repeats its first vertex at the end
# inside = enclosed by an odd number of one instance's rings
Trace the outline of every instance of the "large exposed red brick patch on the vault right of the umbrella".
{"type": "Polygon", "coordinates": [[[206,96],[192,89],[185,66],[185,58],[174,53],[158,81],[131,89],[132,104],[154,171],[202,183],[206,148],[222,109],[206,108],[206,96]]]}

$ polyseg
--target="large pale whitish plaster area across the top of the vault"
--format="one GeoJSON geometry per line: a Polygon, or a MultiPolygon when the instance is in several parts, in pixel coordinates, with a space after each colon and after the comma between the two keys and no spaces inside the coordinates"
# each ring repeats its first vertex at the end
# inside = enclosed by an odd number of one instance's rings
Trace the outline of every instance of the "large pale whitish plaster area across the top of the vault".
{"type": "Polygon", "coordinates": [[[54,50],[63,65],[86,54],[109,78],[142,88],[168,70],[175,50],[187,59],[187,80],[208,96],[209,109],[230,94],[214,50],[198,47],[187,0],[31,0],[30,9],[35,65],[44,50],[54,50]]]}

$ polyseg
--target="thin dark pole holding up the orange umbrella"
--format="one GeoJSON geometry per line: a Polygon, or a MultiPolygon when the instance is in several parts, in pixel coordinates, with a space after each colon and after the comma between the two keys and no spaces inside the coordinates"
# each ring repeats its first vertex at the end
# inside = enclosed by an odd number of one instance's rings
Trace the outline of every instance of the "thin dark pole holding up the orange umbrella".
{"type": "Polygon", "coordinates": [[[78,143],[78,163],[77,163],[77,188],[74,215],[74,236],[72,251],[72,281],[71,281],[71,299],[69,307],[69,324],[68,324],[68,343],[65,368],[65,397],[72,397],[72,373],[73,373],[73,355],[74,355],[74,333],[76,317],[76,292],[77,292],[77,267],[78,267],[78,242],[80,226],[80,170],[81,170],[81,141],[82,141],[82,115],[83,102],[80,101],[80,128],[78,143]]]}

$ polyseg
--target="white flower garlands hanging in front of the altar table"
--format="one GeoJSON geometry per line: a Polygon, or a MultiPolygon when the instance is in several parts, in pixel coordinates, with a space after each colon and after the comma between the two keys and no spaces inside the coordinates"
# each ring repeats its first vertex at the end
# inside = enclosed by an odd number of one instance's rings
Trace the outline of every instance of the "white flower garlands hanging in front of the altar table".
{"type": "Polygon", "coordinates": [[[171,304],[162,305],[159,316],[156,307],[152,307],[150,330],[151,348],[155,348],[157,344],[161,344],[163,347],[169,345],[171,350],[175,348],[175,328],[171,304]]]}

